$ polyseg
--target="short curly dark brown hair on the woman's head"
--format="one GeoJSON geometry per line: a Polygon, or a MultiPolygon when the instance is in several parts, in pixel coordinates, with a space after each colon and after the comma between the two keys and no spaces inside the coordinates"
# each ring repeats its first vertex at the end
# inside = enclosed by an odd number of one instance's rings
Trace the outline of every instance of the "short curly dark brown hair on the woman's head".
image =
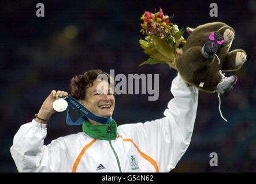
{"type": "MultiPolygon", "coordinates": [[[[105,74],[110,84],[110,75],[102,70],[89,70],[84,74],[76,75],[71,79],[71,96],[73,98],[86,99],[86,90],[97,80],[98,75],[105,74]]],[[[114,83],[116,85],[116,82],[114,83]]]]}

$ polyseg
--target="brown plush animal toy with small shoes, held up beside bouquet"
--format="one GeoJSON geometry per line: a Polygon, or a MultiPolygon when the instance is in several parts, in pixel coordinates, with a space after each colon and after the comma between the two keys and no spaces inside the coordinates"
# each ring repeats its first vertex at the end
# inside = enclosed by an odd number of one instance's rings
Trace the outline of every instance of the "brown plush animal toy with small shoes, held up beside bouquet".
{"type": "Polygon", "coordinates": [[[226,97],[237,77],[227,78],[222,72],[239,70],[246,62],[243,49],[229,52],[235,30],[223,22],[212,22],[188,27],[187,32],[190,36],[182,48],[183,54],[176,57],[176,70],[188,85],[226,97]]]}

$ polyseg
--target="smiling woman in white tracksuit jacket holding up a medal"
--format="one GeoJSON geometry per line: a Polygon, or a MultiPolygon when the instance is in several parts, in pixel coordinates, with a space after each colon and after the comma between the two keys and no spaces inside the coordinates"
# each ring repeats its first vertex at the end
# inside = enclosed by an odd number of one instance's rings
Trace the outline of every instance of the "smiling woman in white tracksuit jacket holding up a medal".
{"type": "Polygon", "coordinates": [[[174,98],[168,103],[165,117],[117,126],[112,118],[115,98],[110,79],[112,77],[101,70],[91,70],[71,79],[71,95],[51,91],[36,119],[22,125],[14,136],[10,152],[18,171],[150,173],[175,168],[190,144],[198,89],[187,87],[178,75],[172,82],[174,98]],[[97,81],[100,74],[107,78],[97,81]],[[83,105],[96,116],[111,121],[104,124],[81,116],[83,132],[60,137],[44,146],[47,120],[55,113],[53,103],[67,96],[74,108],[83,105]]]}

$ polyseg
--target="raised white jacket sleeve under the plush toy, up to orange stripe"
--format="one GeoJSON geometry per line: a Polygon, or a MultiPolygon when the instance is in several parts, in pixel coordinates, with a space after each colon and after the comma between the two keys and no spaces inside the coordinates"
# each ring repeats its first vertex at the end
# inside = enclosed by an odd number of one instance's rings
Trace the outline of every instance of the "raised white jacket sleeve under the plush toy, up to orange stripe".
{"type": "Polygon", "coordinates": [[[169,101],[164,118],[125,128],[126,132],[136,132],[130,134],[132,139],[157,162],[159,172],[175,168],[190,145],[198,106],[198,89],[187,87],[179,74],[170,91],[174,98],[169,101]]]}

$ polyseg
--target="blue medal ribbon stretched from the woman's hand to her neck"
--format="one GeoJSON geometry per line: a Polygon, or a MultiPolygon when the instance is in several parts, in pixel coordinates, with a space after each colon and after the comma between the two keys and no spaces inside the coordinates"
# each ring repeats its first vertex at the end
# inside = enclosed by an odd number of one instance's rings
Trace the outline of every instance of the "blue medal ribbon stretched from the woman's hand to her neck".
{"type": "Polygon", "coordinates": [[[81,125],[83,122],[88,121],[87,118],[90,120],[99,122],[101,124],[109,124],[113,119],[112,117],[102,117],[97,116],[94,113],[90,112],[85,106],[83,106],[79,101],[77,101],[75,98],[68,95],[68,98],[65,98],[65,100],[68,102],[68,108],[66,108],[66,124],[68,125],[81,125]],[[69,116],[69,108],[73,107],[77,110],[77,112],[81,113],[83,116],[81,116],[76,122],[73,122],[71,120],[71,117],[69,116]]]}

